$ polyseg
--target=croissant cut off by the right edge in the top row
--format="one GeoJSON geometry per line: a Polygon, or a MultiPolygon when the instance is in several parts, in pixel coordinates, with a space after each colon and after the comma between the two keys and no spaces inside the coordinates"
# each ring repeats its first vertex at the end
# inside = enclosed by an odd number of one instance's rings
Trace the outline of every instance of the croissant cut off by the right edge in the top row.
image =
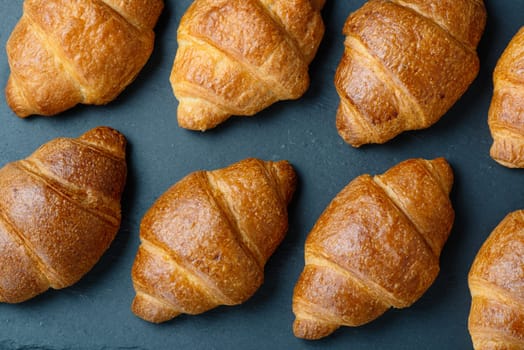
{"type": "Polygon", "coordinates": [[[500,57],[493,82],[490,155],[504,166],[524,168],[524,27],[500,57]]]}

